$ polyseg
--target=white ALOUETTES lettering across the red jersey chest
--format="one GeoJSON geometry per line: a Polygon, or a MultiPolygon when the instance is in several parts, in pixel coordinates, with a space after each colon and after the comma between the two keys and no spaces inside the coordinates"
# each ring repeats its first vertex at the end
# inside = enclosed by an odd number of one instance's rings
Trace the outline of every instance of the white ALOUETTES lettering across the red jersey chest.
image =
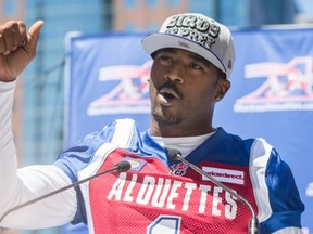
{"type": "Polygon", "coordinates": [[[107,199],[235,219],[236,198],[211,183],[181,177],[120,173],[107,199]]]}

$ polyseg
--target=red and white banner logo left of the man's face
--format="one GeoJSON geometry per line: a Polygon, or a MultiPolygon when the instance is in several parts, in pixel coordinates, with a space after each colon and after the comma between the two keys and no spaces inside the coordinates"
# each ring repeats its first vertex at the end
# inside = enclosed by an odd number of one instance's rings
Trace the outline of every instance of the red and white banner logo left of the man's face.
{"type": "Polygon", "coordinates": [[[149,114],[148,79],[151,64],[152,60],[149,60],[140,66],[118,65],[100,68],[98,79],[103,82],[107,92],[89,104],[87,114],[149,114]]]}

